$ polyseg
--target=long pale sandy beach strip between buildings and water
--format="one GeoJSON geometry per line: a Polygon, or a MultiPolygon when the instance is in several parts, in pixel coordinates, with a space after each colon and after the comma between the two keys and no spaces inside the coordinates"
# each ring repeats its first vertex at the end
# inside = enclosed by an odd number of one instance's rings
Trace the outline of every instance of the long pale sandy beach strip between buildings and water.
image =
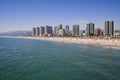
{"type": "Polygon", "coordinates": [[[34,39],[74,44],[85,44],[93,46],[101,46],[106,48],[119,48],[120,39],[83,39],[80,37],[25,37],[25,36],[0,36],[2,38],[23,38],[23,39],[34,39]]]}

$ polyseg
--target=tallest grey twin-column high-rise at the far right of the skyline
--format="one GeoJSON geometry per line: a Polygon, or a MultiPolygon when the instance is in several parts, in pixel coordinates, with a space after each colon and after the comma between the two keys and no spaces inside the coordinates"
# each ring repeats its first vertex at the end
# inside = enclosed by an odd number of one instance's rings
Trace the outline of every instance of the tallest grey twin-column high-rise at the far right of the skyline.
{"type": "Polygon", "coordinates": [[[114,21],[105,21],[105,36],[113,36],[114,35],[114,21]]]}

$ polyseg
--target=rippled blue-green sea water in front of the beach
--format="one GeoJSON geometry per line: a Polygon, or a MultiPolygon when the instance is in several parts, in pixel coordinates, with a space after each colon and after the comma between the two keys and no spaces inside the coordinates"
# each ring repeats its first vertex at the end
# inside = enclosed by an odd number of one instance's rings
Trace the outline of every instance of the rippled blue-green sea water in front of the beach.
{"type": "Polygon", "coordinates": [[[120,49],[0,38],[0,80],[120,80],[120,49]]]}

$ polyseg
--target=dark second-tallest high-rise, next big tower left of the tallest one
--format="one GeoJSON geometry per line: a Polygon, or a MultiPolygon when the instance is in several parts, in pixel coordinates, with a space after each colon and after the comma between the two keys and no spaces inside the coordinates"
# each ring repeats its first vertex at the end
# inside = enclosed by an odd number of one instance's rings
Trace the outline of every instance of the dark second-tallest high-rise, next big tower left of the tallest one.
{"type": "Polygon", "coordinates": [[[87,24],[86,35],[87,36],[94,36],[94,28],[95,28],[95,24],[94,23],[87,24]]]}

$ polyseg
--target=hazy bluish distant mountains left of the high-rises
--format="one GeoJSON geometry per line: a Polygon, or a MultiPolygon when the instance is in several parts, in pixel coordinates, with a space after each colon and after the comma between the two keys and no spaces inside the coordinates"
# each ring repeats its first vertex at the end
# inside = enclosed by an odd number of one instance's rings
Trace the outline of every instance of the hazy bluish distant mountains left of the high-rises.
{"type": "Polygon", "coordinates": [[[32,31],[10,31],[0,33],[0,36],[31,36],[32,31]]]}

